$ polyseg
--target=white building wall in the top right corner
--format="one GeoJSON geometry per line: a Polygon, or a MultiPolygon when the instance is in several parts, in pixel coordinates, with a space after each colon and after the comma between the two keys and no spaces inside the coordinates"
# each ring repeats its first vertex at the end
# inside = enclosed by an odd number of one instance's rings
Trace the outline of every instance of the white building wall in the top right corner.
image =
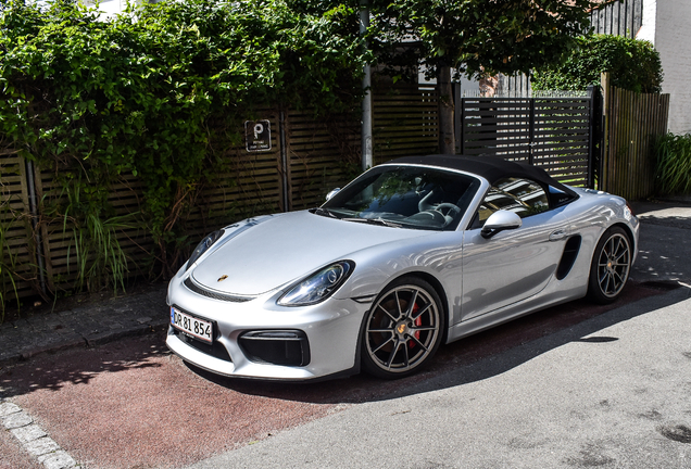
{"type": "Polygon", "coordinates": [[[651,41],[659,52],[663,92],[669,93],[669,131],[691,132],[691,0],[644,0],[637,38],[651,41]]]}

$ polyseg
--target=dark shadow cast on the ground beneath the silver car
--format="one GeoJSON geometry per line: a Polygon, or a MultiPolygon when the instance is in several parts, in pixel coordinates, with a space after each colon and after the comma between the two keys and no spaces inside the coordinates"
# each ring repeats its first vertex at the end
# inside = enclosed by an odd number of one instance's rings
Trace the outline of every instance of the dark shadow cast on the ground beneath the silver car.
{"type": "Polygon", "coordinates": [[[618,339],[612,337],[588,338],[587,335],[674,304],[678,300],[670,295],[659,296],[655,301],[644,301],[646,297],[666,293],[671,288],[677,286],[630,282],[623,297],[614,305],[594,306],[585,300],[579,300],[535,313],[442,346],[425,371],[395,381],[382,381],[361,373],[321,383],[286,384],[219,377],[191,365],[188,367],[219,386],[248,395],[311,404],[357,404],[386,401],[488,379],[569,342],[587,342],[596,346],[599,343],[616,341],[618,339]],[[626,307],[635,302],[637,307],[626,307]],[[510,350],[512,350],[511,354],[503,354],[501,359],[494,359],[510,350]]]}

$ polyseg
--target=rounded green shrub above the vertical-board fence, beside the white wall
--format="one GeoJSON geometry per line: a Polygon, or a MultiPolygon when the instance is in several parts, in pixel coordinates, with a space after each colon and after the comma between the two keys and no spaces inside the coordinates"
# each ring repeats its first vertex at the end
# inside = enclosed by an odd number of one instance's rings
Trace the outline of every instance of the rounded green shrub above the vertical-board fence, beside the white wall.
{"type": "Polygon", "coordinates": [[[600,74],[610,72],[612,84],[627,90],[661,92],[659,53],[648,41],[623,36],[590,35],[557,65],[538,68],[531,80],[535,90],[586,90],[600,85],[600,74]]]}

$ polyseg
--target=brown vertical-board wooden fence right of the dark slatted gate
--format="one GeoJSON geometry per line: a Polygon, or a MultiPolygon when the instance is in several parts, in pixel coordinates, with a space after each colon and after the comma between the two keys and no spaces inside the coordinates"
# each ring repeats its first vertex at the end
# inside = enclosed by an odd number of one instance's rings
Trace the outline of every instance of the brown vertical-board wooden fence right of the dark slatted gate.
{"type": "Polygon", "coordinates": [[[604,90],[601,190],[640,200],[655,192],[653,144],[667,132],[669,94],[644,94],[610,85],[604,90]]]}

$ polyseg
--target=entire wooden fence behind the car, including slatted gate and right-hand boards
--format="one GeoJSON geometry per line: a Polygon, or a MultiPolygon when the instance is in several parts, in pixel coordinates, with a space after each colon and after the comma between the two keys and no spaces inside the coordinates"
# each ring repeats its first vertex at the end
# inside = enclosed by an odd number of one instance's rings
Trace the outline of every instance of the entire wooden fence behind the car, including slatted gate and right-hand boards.
{"type": "MultiPolygon", "coordinates": [[[[438,141],[437,98],[427,87],[397,86],[373,93],[375,164],[393,157],[429,154],[438,141]]],[[[493,154],[544,167],[557,179],[592,186],[592,100],[582,98],[464,98],[456,105],[458,138],[465,154],[493,154]]],[[[606,162],[600,188],[638,199],[652,191],[650,143],[666,131],[669,97],[635,96],[610,89],[605,98],[606,162]],[[651,114],[652,113],[652,114],[651,114]],[[652,124],[651,124],[652,123],[652,124]]],[[[266,110],[272,150],[248,152],[229,145],[227,174],[198,187],[179,216],[194,243],[204,233],[263,213],[319,205],[360,165],[357,117],[315,119],[305,112],[266,110]]],[[[40,291],[74,289],[77,279],[72,225],[41,212],[41,201],[65,195],[54,169],[39,170],[12,149],[0,151],[0,294],[8,302],[40,291]],[[33,177],[30,177],[33,175],[33,177]]],[[[142,181],[122,175],[111,188],[115,216],[141,218],[142,181]]],[[[141,220],[140,220],[141,221],[141,220]]],[[[143,224],[117,230],[117,241],[133,275],[155,252],[143,224]]]]}

